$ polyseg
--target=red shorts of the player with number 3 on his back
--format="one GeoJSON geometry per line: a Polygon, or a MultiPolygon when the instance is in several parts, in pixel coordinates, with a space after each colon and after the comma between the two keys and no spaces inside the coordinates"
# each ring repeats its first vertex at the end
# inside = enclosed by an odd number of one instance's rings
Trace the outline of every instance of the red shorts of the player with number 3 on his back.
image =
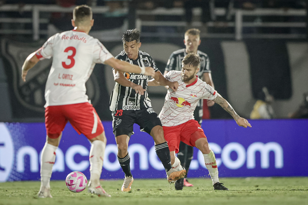
{"type": "Polygon", "coordinates": [[[45,126],[48,137],[56,139],[60,136],[67,121],[78,132],[92,139],[103,133],[104,127],[92,104],[78,103],[55,105],[45,108],[45,126]]]}

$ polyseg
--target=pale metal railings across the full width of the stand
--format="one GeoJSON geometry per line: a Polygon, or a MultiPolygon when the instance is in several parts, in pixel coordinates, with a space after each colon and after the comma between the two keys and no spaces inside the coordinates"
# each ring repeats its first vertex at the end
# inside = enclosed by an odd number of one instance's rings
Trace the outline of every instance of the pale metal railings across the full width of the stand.
{"type": "MultiPolygon", "coordinates": [[[[40,30],[40,24],[47,24],[49,19],[40,18],[40,12],[63,12],[71,13],[74,7],[64,8],[58,5],[30,5],[24,6],[5,4],[0,6],[0,12],[19,11],[19,12],[32,12],[32,18],[0,18],[0,23],[32,23],[31,29],[0,29],[0,34],[33,34],[34,40],[39,40],[40,34],[47,34],[47,30],[40,30]]],[[[96,6],[92,8],[93,13],[106,13],[108,12],[108,6],[96,6]]],[[[128,8],[123,9],[125,13],[128,13],[128,8]]],[[[226,10],[224,8],[215,8],[214,15],[224,16],[226,10]]],[[[188,26],[185,21],[144,21],[142,15],[154,15],[154,16],[184,16],[183,8],[156,8],[151,11],[137,10],[136,11],[136,28],[140,31],[142,26],[171,26],[171,27],[186,27],[188,26]]],[[[201,15],[201,9],[193,9],[194,16],[201,15]]],[[[218,38],[235,38],[241,40],[243,38],[305,38],[306,34],[243,34],[243,27],[306,27],[306,22],[244,22],[244,16],[306,16],[306,10],[304,9],[255,9],[255,10],[232,10],[231,15],[235,15],[235,22],[207,22],[208,27],[234,27],[234,33],[202,33],[201,37],[218,37],[218,38]]],[[[191,24],[192,27],[201,27],[202,22],[194,21],[191,24]]],[[[179,37],[182,33],[153,33],[143,32],[144,37],[179,37]]]]}

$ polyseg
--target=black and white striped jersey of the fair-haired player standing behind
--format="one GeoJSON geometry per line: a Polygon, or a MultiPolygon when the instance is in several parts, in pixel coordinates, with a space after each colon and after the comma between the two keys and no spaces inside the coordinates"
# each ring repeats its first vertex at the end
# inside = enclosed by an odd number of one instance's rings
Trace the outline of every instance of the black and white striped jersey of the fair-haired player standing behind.
{"type": "MultiPolygon", "coordinates": [[[[206,73],[206,72],[211,73],[210,65],[209,65],[210,61],[209,61],[208,55],[201,52],[200,50],[197,51],[197,54],[201,58],[200,70],[197,73],[197,76],[199,78],[202,78],[203,73],[206,73]]],[[[167,70],[167,71],[170,71],[170,70],[181,71],[182,70],[182,60],[183,60],[184,56],[186,56],[186,55],[187,55],[187,53],[186,53],[185,49],[180,49],[180,50],[174,51],[171,54],[171,56],[169,57],[169,60],[167,62],[165,70],[167,70]]]]}

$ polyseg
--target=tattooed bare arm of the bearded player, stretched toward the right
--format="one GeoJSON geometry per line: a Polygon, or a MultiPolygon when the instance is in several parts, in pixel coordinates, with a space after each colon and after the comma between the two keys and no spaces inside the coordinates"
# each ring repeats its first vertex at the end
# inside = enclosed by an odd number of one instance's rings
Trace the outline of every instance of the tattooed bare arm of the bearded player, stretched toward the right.
{"type": "Polygon", "coordinates": [[[250,123],[245,119],[240,117],[233,109],[233,107],[226,101],[219,93],[217,93],[217,97],[213,100],[217,104],[219,104],[225,111],[229,112],[229,114],[234,118],[236,123],[244,128],[251,127],[250,123]]]}

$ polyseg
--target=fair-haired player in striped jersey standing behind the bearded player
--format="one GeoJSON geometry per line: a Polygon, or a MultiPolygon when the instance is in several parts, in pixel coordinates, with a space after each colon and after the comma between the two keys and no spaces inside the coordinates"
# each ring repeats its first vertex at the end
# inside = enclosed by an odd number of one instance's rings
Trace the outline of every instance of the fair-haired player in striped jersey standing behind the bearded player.
{"type": "MultiPolygon", "coordinates": [[[[183,60],[184,56],[187,53],[197,53],[198,56],[201,58],[200,70],[197,73],[197,76],[201,80],[205,81],[208,85],[214,88],[211,70],[209,68],[209,57],[205,53],[198,50],[198,46],[200,45],[200,43],[201,43],[200,30],[199,29],[187,30],[184,35],[184,44],[186,48],[176,50],[171,54],[171,56],[169,57],[168,63],[166,65],[166,68],[165,68],[164,76],[170,70],[181,71],[182,69],[181,61],[183,60]]],[[[215,104],[214,101],[211,101],[211,100],[207,101],[207,105],[209,107],[213,106],[214,104],[215,104]]],[[[200,100],[198,101],[197,107],[194,111],[195,120],[197,120],[199,124],[202,123],[202,116],[203,116],[203,101],[200,100]]],[[[193,184],[188,182],[187,173],[188,173],[190,162],[193,159],[193,147],[183,142],[180,142],[179,153],[177,153],[177,156],[180,159],[181,164],[186,169],[186,175],[184,178],[179,179],[179,181],[175,183],[175,186],[177,186],[178,183],[184,183],[184,186],[192,187],[193,184]]]]}

